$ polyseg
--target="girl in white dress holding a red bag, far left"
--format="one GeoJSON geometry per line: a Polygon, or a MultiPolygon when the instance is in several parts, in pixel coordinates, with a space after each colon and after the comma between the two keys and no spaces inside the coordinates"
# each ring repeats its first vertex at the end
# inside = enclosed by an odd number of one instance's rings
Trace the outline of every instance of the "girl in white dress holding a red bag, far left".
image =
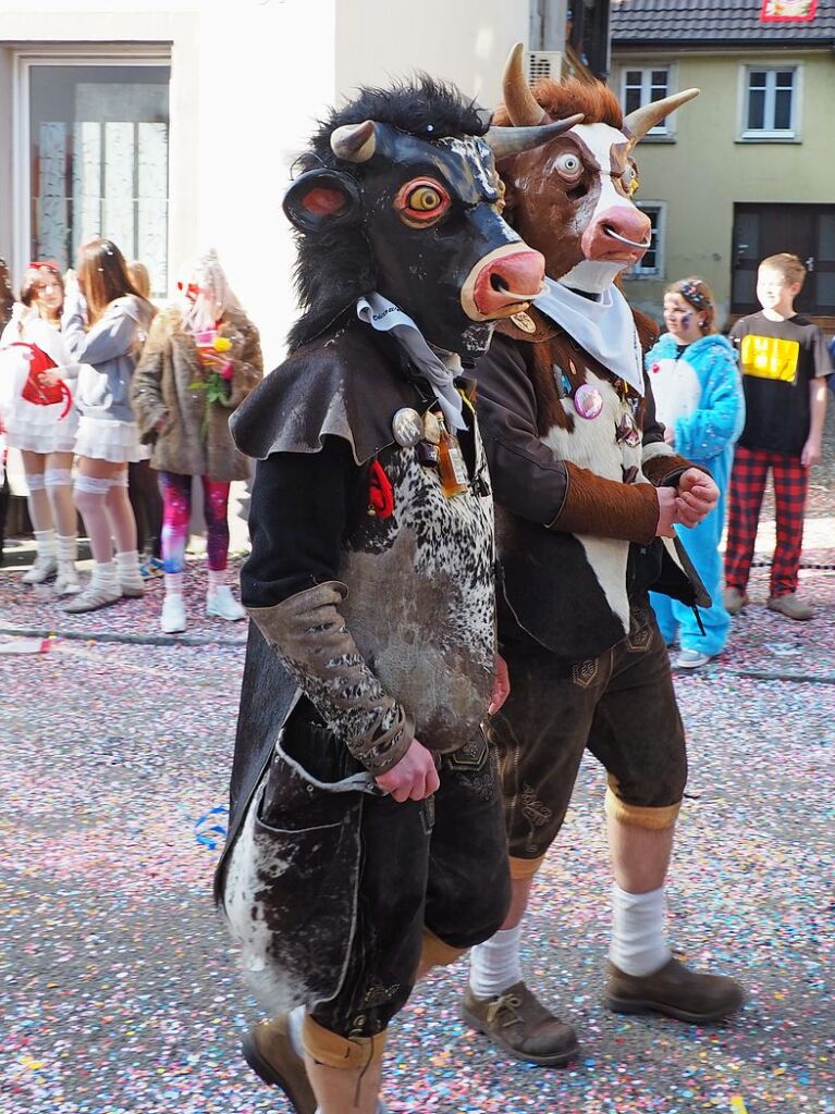
{"type": "Polygon", "coordinates": [[[10,448],[19,449],[29,490],[37,557],[25,584],[56,577],[58,595],[80,590],[76,571],[72,450],[78,414],[72,389],[78,364],[60,332],[64,281],[52,262],[32,263],[20,303],[0,338],[0,392],[10,448]]]}

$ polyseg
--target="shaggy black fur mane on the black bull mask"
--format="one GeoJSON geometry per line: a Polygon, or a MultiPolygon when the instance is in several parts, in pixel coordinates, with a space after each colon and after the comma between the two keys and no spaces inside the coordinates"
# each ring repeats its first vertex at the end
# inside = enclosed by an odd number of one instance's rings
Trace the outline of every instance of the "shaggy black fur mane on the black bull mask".
{"type": "MultiPolygon", "coordinates": [[[[342,108],[320,121],[308,149],[297,160],[299,173],[318,167],[339,169],[362,180],[361,164],[338,159],[330,137],[344,124],[377,120],[420,139],[482,136],[488,121],[472,100],[453,85],[417,75],[412,82],[390,89],[362,88],[342,108]]],[[[295,233],[295,289],[302,315],[288,335],[290,350],[299,348],[336,323],[377,285],[371,247],[360,226],[295,233]]]]}

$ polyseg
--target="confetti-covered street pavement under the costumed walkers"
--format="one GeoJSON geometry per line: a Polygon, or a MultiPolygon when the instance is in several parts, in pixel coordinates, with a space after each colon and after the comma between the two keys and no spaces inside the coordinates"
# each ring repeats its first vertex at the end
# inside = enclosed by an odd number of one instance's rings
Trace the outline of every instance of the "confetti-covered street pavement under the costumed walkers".
{"type": "MultiPolygon", "coordinates": [[[[0,659],[0,1114],[289,1112],[239,1055],[260,1015],[212,908],[245,631],[226,645],[200,616],[203,577],[195,564],[191,631],[207,644],[192,646],[100,641],[155,631],[156,585],[64,622],[0,574],[0,626],[81,636],[0,659]]],[[[702,1028],[602,1006],[605,783],[585,761],[523,956],[579,1058],[556,1071],[491,1048],[458,1017],[457,964],[392,1028],[391,1114],[835,1114],[835,688],[755,675],[835,676],[835,577],[804,579],[819,618],[755,604],[719,662],[676,678],[691,774],[671,941],[742,980],[741,1014],[702,1028]]]]}

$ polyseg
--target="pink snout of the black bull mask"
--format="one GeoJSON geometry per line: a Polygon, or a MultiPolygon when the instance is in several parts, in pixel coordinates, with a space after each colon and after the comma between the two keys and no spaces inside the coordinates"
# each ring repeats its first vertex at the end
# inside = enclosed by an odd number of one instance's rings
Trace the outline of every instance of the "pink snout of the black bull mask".
{"type": "Polygon", "coordinates": [[[464,312],[473,321],[491,321],[518,313],[542,293],[545,258],[518,241],[485,255],[462,289],[464,312]]]}

